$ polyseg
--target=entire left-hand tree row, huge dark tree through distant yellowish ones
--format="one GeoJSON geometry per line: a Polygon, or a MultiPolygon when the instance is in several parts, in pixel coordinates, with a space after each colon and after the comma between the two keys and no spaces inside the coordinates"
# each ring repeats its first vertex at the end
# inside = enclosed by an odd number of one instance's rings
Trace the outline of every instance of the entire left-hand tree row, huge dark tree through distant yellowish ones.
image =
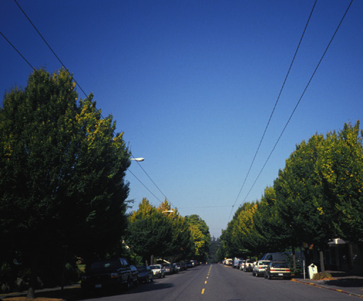
{"type": "Polygon", "coordinates": [[[208,249],[205,223],[177,210],[165,215],[167,202],[143,200],[128,219],[123,133],[92,95],[78,100],[75,86],[65,69],[38,69],[0,108],[0,285],[21,276],[31,298],[40,280],[60,285],[76,256],[120,256],[122,237],[144,259],[208,249]]]}

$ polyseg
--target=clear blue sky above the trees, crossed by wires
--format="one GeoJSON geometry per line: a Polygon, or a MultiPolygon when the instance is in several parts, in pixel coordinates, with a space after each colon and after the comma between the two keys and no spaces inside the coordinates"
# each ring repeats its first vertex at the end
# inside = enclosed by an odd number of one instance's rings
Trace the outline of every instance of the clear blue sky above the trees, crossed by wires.
{"type": "MultiPolygon", "coordinates": [[[[127,176],[134,209],[166,195],[218,237],[240,204],[272,186],[296,144],[363,121],[362,0],[301,98],[350,4],[318,0],[246,181],[315,1],[17,1],[102,115],[113,115],[133,155],[145,158],[147,174],[130,166],[142,183],[127,176]]],[[[33,67],[62,67],[13,0],[0,1],[0,31],[33,67]]],[[[31,72],[0,35],[1,94],[26,86],[31,72]]]]}

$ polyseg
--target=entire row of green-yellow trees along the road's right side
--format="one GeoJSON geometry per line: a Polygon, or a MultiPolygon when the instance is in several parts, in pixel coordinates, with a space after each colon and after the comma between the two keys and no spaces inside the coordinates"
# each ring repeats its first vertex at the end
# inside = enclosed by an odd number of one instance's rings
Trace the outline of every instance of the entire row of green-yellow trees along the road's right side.
{"type": "Polygon", "coordinates": [[[286,160],[261,200],[244,203],[220,237],[219,256],[258,256],[307,243],[320,251],[337,237],[363,237],[363,131],[359,120],[313,135],[286,160]]]}

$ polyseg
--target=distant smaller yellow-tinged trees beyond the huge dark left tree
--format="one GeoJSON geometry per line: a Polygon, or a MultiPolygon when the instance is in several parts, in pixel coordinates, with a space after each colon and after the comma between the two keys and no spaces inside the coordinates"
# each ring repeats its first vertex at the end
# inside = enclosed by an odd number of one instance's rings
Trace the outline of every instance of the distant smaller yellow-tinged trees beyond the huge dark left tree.
{"type": "Polygon", "coordinates": [[[181,217],[164,200],[157,208],[146,198],[128,218],[125,243],[139,256],[140,263],[153,263],[157,258],[206,260],[211,235],[198,215],[181,217]]]}

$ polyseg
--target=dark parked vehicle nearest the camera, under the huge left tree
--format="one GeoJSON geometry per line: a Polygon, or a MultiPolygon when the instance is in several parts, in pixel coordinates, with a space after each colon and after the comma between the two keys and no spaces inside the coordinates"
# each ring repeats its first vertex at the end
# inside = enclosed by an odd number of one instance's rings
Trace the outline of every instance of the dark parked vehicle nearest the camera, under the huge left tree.
{"type": "Polygon", "coordinates": [[[130,288],[133,282],[127,259],[107,259],[86,265],[81,287],[84,292],[101,288],[130,288]]]}

